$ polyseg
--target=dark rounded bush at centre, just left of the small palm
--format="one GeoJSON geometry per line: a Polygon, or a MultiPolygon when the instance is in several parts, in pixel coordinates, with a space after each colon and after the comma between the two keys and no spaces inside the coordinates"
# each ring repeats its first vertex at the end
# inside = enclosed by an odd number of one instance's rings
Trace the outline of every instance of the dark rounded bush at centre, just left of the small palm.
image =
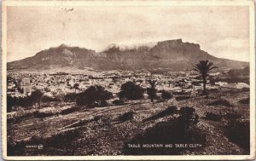
{"type": "Polygon", "coordinates": [[[119,99],[127,98],[129,100],[143,99],[144,89],[139,85],[132,82],[127,82],[121,85],[121,91],[119,92],[119,99]]]}

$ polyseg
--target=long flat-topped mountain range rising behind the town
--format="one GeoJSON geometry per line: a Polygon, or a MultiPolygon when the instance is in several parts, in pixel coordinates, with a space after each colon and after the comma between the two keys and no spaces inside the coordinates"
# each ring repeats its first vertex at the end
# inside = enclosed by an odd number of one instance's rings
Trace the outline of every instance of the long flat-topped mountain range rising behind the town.
{"type": "Polygon", "coordinates": [[[191,68],[199,60],[210,60],[219,67],[247,66],[247,62],[219,59],[200,49],[199,44],[183,43],[182,39],[158,42],[153,47],[139,46],[133,49],[119,49],[113,46],[96,53],[95,50],[69,47],[45,49],[24,60],[8,63],[8,70],[47,70],[73,67],[84,69],[92,67],[98,70],[143,68],[169,68],[183,70],[191,68]]]}

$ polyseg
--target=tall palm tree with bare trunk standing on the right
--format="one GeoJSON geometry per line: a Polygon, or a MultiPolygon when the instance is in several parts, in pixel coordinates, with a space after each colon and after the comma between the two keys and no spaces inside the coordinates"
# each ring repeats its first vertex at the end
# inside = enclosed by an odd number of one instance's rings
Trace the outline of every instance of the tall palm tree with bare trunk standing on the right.
{"type": "Polygon", "coordinates": [[[207,76],[208,72],[212,71],[212,69],[218,68],[217,66],[213,66],[213,63],[209,60],[200,60],[199,63],[193,66],[193,70],[201,73],[201,78],[203,81],[203,95],[207,95],[207,76]]]}

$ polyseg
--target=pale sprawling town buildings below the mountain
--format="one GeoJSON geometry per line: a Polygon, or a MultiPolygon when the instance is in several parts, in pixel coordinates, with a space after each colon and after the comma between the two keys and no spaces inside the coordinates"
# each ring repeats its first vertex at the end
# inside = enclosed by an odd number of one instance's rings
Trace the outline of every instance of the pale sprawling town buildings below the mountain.
{"type": "MultiPolygon", "coordinates": [[[[216,75],[218,73],[212,73],[216,75]]],[[[203,89],[201,80],[195,79],[198,75],[195,72],[172,72],[168,75],[151,74],[148,71],[109,71],[98,72],[94,75],[70,74],[57,72],[54,74],[40,73],[9,73],[7,79],[7,95],[26,96],[31,95],[35,89],[41,89],[50,95],[55,90],[62,90],[63,93],[81,92],[91,85],[101,85],[113,95],[119,93],[123,83],[128,81],[137,83],[143,88],[150,87],[148,80],[157,80],[156,89],[172,92],[187,92],[195,94],[203,89]]],[[[249,88],[247,83],[226,83],[207,82],[207,89],[241,90],[249,88]]]]}

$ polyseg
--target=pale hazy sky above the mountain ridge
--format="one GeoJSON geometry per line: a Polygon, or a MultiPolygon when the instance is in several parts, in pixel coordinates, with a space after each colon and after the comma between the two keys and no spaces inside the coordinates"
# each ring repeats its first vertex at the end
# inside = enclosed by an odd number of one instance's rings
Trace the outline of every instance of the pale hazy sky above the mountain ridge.
{"type": "Polygon", "coordinates": [[[101,51],[177,38],[210,55],[249,60],[248,7],[8,7],[7,15],[8,61],[61,43],[101,51]]]}

